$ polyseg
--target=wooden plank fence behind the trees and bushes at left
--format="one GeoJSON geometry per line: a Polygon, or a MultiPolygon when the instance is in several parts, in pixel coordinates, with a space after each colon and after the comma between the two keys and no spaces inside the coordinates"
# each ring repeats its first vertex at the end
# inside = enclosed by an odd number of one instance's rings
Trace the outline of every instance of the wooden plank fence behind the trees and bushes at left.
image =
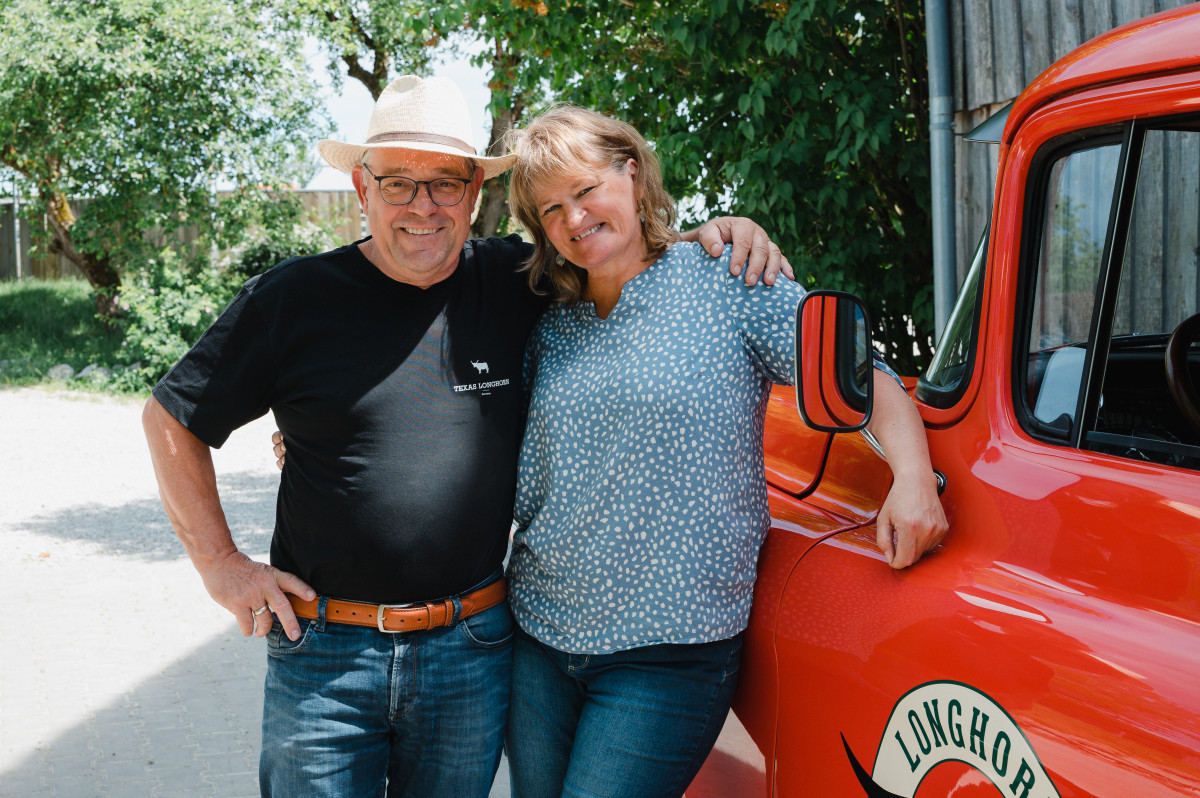
{"type": "MultiPolygon", "coordinates": [[[[353,191],[299,191],[305,217],[313,222],[335,222],[337,244],[349,244],[366,235],[365,220],[359,210],[359,200],[353,191]]],[[[76,214],[88,200],[73,200],[71,208],[76,214]]],[[[18,215],[20,215],[18,212],[18,215]]],[[[44,222],[34,222],[42,223],[44,222]]],[[[196,228],[184,228],[178,233],[182,244],[194,241],[199,235],[196,228]]],[[[67,276],[79,276],[74,264],[62,256],[48,252],[34,252],[31,247],[30,221],[25,217],[13,223],[12,198],[0,198],[0,280],[34,277],[37,280],[58,280],[67,276]],[[19,229],[19,241],[17,230],[19,229]]]]}

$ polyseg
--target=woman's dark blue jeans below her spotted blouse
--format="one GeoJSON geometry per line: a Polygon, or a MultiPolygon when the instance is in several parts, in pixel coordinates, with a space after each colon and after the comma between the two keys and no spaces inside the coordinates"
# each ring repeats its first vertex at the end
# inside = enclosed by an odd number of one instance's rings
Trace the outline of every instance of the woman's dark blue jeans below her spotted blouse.
{"type": "Polygon", "coordinates": [[[679,798],[720,734],[740,659],[740,635],[588,655],[517,629],[512,798],[679,798]]]}

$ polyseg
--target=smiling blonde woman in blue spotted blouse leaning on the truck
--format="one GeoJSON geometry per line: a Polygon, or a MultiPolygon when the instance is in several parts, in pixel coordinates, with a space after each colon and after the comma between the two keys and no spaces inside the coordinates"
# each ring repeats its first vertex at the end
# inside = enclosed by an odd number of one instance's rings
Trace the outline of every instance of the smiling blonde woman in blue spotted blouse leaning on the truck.
{"type": "MultiPolygon", "coordinates": [[[[548,281],[558,301],[526,354],[514,794],[679,796],[737,684],[768,526],[766,403],[794,373],[802,290],[746,288],[680,242],[629,125],[558,107],[515,152],[530,284],[548,281]]],[[[905,548],[886,548],[902,566],[946,522],[916,409],[887,377],[876,397],[872,432],[896,475],[881,528],[904,528],[905,548]]]]}

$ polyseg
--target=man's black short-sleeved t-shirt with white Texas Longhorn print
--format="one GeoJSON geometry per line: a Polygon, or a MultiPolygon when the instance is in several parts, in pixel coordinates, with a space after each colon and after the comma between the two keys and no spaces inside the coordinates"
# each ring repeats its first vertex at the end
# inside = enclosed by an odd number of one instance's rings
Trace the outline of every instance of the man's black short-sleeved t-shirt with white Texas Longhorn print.
{"type": "Polygon", "coordinates": [[[546,306],[517,272],[529,250],[468,241],[426,289],[356,244],[286,262],[247,281],[155,386],[210,446],[274,410],[288,446],[274,565],[319,594],[385,604],[456,594],[499,568],[521,359],[546,306]]]}

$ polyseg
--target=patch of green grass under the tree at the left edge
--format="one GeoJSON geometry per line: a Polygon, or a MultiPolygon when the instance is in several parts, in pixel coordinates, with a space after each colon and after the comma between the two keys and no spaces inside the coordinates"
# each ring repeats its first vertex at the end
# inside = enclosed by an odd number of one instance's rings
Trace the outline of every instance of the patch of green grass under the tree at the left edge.
{"type": "Polygon", "coordinates": [[[60,364],[77,373],[91,364],[115,371],[126,365],[121,340],[119,329],[96,317],[84,280],[0,282],[0,386],[70,385],[110,392],[110,380],[55,380],[48,372],[60,364]]]}

